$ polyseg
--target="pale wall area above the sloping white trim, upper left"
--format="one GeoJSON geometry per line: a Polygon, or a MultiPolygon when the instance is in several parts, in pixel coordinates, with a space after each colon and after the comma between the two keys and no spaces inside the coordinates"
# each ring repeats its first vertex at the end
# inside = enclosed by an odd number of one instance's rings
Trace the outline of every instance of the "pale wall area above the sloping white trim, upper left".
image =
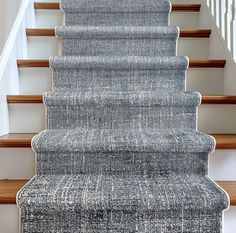
{"type": "Polygon", "coordinates": [[[0,0],[0,53],[12,29],[22,0],[0,0]]]}

